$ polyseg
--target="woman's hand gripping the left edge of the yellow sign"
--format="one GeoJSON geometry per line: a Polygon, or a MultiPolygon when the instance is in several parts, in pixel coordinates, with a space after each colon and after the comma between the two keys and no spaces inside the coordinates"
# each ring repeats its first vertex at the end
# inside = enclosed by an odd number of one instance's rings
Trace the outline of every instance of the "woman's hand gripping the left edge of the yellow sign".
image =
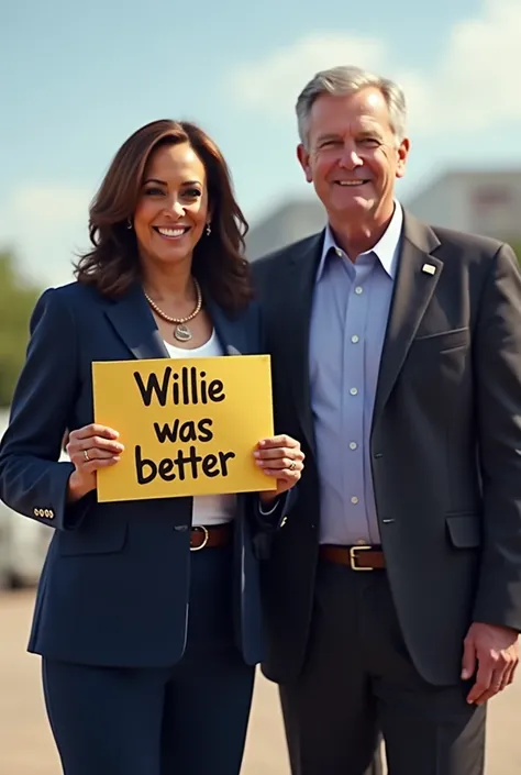
{"type": "Polygon", "coordinates": [[[112,428],[91,423],[71,431],[65,447],[75,470],[68,483],[68,499],[79,500],[96,489],[96,472],[119,462],[124,450],[112,428]]]}

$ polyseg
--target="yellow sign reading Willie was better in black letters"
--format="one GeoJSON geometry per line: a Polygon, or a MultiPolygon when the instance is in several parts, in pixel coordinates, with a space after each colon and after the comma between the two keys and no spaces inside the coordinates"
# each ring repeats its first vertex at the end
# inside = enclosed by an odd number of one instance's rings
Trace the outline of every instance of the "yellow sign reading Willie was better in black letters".
{"type": "Polygon", "coordinates": [[[276,488],[253,451],[273,435],[269,355],[92,364],[96,422],[124,452],[98,472],[98,500],[276,488]]]}

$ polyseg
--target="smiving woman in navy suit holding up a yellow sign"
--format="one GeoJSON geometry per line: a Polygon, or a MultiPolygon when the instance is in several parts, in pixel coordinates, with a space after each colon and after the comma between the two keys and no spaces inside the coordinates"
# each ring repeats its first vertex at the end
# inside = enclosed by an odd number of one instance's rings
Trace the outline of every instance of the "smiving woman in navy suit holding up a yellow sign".
{"type": "Polygon", "coordinates": [[[259,496],[98,503],[97,472],[125,451],[93,423],[91,363],[262,352],[245,226],[214,143],[148,124],[93,201],[77,283],[33,313],[0,495],[56,528],[30,651],[65,775],[240,771],[262,657],[255,538],[280,525],[303,455],[286,436],[259,442],[277,485],[259,496]],[[71,463],[57,462],[66,429],[71,463]]]}

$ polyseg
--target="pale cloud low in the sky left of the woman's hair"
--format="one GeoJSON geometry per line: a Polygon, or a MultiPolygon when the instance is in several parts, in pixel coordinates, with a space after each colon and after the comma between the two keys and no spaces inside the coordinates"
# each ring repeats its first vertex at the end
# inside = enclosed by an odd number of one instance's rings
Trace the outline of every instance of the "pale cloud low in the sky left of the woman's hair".
{"type": "Polygon", "coordinates": [[[87,245],[92,192],[59,185],[14,189],[0,218],[0,243],[12,245],[22,270],[37,283],[71,278],[74,253],[87,245]]]}

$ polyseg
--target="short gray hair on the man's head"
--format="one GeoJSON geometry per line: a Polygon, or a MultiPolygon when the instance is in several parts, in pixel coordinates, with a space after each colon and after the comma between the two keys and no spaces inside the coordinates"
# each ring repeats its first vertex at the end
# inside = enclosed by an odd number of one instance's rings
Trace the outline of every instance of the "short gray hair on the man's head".
{"type": "Polygon", "coordinates": [[[344,97],[362,89],[374,87],[384,95],[389,109],[389,117],[397,143],[406,136],[407,104],[406,96],[392,80],[363,70],[361,67],[342,66],[321,70],[302,89],[297,100],[297,121],[300,142],[308,144],[309,117],[314,101],[321,95],[344,97]]]}

